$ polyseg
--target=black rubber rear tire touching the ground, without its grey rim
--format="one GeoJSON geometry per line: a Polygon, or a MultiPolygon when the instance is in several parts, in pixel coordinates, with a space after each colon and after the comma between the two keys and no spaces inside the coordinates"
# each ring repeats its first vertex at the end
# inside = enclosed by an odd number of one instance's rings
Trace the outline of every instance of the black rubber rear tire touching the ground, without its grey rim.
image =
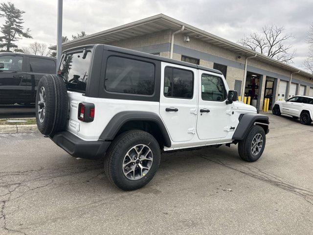
{"type": "Polygon", "coordinates": [[[147,132],[131,130],[120,134],[112,141],[104,159],[104,168],[113,185],[123,190],[135,190],[152,180],[160,164],[160,159],[161,151],[156,139],[147,132]],[[149,146],[153,154],[153,162],[145,176],[138,180],[131,180],[123,173],[123,161],[126,153],[138,144],[149,146]]]}

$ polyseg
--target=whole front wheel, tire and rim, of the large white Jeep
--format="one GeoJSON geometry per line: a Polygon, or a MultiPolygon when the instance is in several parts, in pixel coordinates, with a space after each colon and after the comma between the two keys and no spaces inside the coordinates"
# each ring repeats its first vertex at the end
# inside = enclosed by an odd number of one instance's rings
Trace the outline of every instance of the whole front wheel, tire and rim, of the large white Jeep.
{"type": "Polygon", "coordinates": [[[257,161],[265,148],[266,136],[261,126],[252,126],[246,138],[239,142],[238,153],[242,160],[247,162],[257,161]]]}

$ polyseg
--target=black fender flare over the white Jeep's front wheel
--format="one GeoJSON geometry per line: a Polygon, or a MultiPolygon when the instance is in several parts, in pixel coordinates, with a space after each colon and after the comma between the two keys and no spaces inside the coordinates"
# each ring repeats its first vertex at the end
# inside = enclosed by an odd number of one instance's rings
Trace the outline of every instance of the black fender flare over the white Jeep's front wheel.
{"type": "Polygon", "coordinates": [[[239,117],[239,123],[232,139],[236,141],[245,139],[247,131],[252,125],[262,126],[265,130],[265,134],[268,134],[268,116],[256,113],[247,113],[239,117]]]}

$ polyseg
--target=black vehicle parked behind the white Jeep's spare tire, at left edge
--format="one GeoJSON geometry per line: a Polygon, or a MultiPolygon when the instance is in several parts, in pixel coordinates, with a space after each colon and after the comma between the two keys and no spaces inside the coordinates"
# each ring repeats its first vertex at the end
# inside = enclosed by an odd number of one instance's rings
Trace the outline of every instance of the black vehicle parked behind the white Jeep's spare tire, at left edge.
{"type": "Polygon", "coordinates": [[[55,73],[55,58],[1,52],[0,104],[35,103],[40,78],[55,73]]]}

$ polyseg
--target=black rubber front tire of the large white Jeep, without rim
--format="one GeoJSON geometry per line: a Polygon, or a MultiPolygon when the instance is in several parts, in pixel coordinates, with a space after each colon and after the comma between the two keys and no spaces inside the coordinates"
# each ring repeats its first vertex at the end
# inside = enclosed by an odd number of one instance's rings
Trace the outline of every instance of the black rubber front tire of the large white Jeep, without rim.
{"type": "Polygon", "coordinates": [[[261,155],[262,155],[262,153],[264,151],[265,143],[266,143],[266,135],[265,135],[264,129],[261,126],[253,125],[248,130],[246,138],[244,140],[240,141],[239,144],[238,144],[238,153],[239,153],[240,158],[242,160],[246,161],[246,162],[255,162],[255,161],[257,161],[261,157],[261,155]],[[252,154],[252,150],[251,150],[251,144],[252,144],[253,138],[257,134],[261,134],[262,135],[263,146],[262,146],[260,152],[257,155],[253,155],[252,154]]]}

